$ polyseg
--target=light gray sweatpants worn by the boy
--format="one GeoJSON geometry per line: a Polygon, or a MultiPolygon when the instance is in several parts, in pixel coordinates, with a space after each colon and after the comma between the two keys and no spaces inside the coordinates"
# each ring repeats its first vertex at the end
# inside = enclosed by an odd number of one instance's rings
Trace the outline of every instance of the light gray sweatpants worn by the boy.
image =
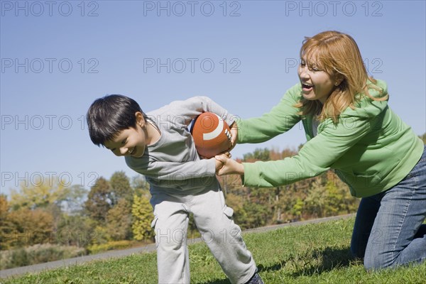
{"type": "Polygon", "coordinates": [[[192,213],[202,240],[219,262],[231,283],[243,284],[256,271],[256,263],[234,223],[234,210],[227,207],[222,190],[198,195],[170,195],[152,191],[158,283],[190,283],[187,227],[192,213]]]}

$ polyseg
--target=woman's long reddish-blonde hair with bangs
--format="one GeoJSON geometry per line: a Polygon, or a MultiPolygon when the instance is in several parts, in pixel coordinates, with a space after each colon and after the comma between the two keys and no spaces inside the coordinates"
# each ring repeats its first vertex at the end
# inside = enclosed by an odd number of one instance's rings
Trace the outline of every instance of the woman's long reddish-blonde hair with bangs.
{"type": "Polygon", "coordinates": [[[362,95],[373,100],[383,101],[385,97],[372,97],[368,89],[381,89],[376,86],[376,80],[369,77],[359,52],[358,45],[350,35],[338,31],[324,31],[312,38],[305,37],[300,58],[306,60],[307,67],[317,68],[327,72],[331,77],[342,80],[329,95],[324,106],[318,100],[302,98],[295,107],[300,108],[300,114],[314,114],[320,121],[331,118],[337,123],[339,115],[347,107],[355,108],[356,102],[362,95]],[[373,84],[368,84],[370,81],[373,84]]]}

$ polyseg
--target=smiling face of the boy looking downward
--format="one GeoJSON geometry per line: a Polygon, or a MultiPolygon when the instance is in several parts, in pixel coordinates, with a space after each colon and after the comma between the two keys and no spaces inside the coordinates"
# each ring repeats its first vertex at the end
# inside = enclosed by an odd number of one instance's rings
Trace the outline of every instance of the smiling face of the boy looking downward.
{"type": "Polygon", "coordinates": [[[120,131],[119,134],[104,143],[104,146],[115,155],[131,155],[140,158],[145,153],[146,147],[145,121],[137,119],[136,129],[133,127],[120,131]]]}

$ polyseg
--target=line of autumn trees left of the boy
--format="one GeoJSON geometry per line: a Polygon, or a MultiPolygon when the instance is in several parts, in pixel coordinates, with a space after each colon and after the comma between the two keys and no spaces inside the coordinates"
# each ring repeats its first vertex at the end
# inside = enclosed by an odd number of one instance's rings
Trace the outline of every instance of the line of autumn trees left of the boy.
{"type": "Polygon", "coordinates": [[[1,269],[152,242],[147,183],[124,172],[90,190],[56,177],[0,195],[1,269]]]}

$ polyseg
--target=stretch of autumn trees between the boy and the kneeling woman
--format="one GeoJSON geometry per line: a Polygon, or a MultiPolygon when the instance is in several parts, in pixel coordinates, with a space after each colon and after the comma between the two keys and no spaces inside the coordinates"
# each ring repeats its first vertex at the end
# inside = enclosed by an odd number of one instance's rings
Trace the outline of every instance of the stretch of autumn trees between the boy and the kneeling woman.
{"type": "MultiPolygon", "coordinates": [[[[280,160],[297,151],[258,148],[241,162],[280,160]]],[[[222,178],[222,177],[221,177],[222,178]]],[[[234,208],[234,219],[242,229],[281,224],[356,212],[359,200],[332,170],[307,180],[273,188],[241,187],[241,177],[222,178],[226,202],[234,208]]]]}

